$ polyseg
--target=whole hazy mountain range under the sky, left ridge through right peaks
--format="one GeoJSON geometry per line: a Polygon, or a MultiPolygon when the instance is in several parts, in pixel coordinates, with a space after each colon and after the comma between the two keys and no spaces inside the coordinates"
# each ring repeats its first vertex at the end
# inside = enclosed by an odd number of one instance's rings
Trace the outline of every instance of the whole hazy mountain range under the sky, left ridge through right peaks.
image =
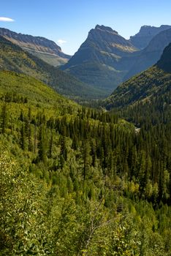
{"type": "MultiPolygon", "coordinates": [[[[22,48],[25,53],[31,53],[29,58],[35,61],[38,57],[50,64],[46,67],[45,63],[41,62],[45,67],[44,74],[42,78],[39,75],[39,79],[58,87],[58,91],[66,96],[77,98],[82,94],[82,98],[86,99],[92,97],[96,99],[111,94],[120,83],[155,64],[164,48],[171,42],[171,26],[167,25],[161,25],[159,28],[142,26],[130,39],[121,37],[117,31],[108,26],[96,25],[95,29],[89,31],[86,41],[71,57],[64,54],[55,42],[44,37],[18,34],[8,29],[0,29],[0,34],[12,44],[22,48]],[[64,85],[62,82],[63,78],[56,80],[56,77],[63,72],[50,68],[57,65],[61,65],[60,69],[66,74],[64,77],[73,81],[72,86],[67,82],[67,89],[66,83],[64,85]],[[45,75],[47,70],[51,73],[50,79],[45,79],[45,76],[49,77],[49,74],[45,75]],[[58,75],[53,75],[54,73],[58,75]]],[[[39,59],[37,61],[40,63],[39,59]]],[[[21,71],[23,67],[20,66],[18,68],[21,71]]],[[[34,69],[31,68],[28,75],[33,74],[34,69]]]]}

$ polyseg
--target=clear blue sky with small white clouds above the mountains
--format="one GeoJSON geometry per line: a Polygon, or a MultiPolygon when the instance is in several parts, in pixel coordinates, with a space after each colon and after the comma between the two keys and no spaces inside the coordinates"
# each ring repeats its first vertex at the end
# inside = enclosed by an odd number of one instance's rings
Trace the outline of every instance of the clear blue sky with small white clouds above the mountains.
{"type": "Polygon", "coordinates": [[[1,0],[0,27],[46,37],[73,55],[96,24],[129,39],[143,25],[171,25],[170,0],[1,0]]]}

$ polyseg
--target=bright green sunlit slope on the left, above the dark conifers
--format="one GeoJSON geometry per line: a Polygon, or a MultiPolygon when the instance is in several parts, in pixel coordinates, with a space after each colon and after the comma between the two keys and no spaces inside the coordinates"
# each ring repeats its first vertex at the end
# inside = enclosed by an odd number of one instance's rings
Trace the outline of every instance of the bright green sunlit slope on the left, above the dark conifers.
{"type": "Polygon", "coordinates": [[[47,113],[53,110],[53,115],[65,111],[65,108],[71,111],[78,108],[75,102],[57,94],[39,80],[10,71],[0,71],[0,99],[23,106],[26,103],[35,109],[45,109],[47,113]]]}

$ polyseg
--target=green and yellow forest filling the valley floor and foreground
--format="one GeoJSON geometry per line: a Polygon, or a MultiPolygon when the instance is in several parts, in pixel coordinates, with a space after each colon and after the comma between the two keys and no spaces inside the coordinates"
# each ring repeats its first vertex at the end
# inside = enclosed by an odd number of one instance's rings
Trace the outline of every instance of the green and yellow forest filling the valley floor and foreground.
{"type": "Polygon", "coordinates": [[[169,94],[107,111],[0,85],[0,255],[171,255],[169,94]]]}

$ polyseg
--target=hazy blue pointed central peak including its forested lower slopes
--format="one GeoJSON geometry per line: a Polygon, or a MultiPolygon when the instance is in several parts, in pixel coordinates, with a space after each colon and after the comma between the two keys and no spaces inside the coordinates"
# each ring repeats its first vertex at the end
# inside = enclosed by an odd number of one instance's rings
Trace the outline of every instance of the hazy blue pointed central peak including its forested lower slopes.
{"type": "Polygon", "coordinates": [[[127,61],[137,48],[107,26],[91,29],[85,42],[68,63],[61,67],[83,82],[110,93],[128,72],[127,61]]]}

